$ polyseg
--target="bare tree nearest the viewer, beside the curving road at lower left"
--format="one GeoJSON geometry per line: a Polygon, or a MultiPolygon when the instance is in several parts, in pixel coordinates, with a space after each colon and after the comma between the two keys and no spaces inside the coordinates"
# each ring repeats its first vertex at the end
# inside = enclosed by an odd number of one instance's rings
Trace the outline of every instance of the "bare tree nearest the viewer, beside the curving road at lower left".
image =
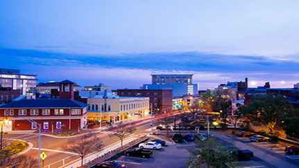
{"type": "Polygon", "coordinates": [[[74,138],[69,140],[69,144],[64,147],[65,151],[77,153],[81,158],[81,166],[83,166],[83,159],[93,151],[99,151],[103,144],[99,138],[94,138],[94,133],[86,133],[80,136],[79,139],[74,138]]]}

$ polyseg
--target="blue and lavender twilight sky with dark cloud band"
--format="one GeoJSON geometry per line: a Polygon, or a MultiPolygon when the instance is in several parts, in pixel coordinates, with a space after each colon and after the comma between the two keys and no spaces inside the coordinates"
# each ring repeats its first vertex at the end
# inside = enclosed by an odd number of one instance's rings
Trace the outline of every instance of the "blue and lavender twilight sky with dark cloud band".
{"type": "Polygon", "coordinates": [[[0,68],[114,89],[161,73],[194,74],[200,90],[245,77],[292,87],[298,8],[297,0],[1,1],[0,68]]]}

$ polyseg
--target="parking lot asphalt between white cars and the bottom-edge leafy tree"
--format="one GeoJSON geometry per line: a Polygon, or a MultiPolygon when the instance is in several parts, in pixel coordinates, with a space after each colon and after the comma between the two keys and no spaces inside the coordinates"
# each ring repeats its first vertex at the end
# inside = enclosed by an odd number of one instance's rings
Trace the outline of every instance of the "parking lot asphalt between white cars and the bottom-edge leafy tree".
{"type": "Polygon", "coordinates": [[[186,167],[188,161],[188,149],[194,147],[193,142],[182,142],[177,144],[166,143],[162,149],[151,150],[153,156],[151,158],[137,158],[131,156],[121,156],[117,158],[117,162],[126,165],[129,168],[137,167],[186,167]]]}

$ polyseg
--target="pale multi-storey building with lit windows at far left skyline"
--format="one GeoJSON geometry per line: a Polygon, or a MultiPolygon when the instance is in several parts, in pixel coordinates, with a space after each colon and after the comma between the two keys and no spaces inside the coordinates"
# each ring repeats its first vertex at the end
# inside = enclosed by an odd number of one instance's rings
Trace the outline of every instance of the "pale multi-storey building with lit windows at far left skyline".
{"type": "Polygon", "coordinates": [[[36,75],[21,74],[16,69],[0,68],[0,86],[20,90],[21,95],[33,95],[36,89],[36,75]]]}

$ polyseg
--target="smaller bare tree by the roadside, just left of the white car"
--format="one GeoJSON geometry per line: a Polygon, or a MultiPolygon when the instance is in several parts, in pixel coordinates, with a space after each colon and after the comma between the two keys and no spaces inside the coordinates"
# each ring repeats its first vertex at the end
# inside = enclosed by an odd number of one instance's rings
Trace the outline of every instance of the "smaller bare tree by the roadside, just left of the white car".
{"type": "Polygon", "coordinates": [[[116,136],[121,140],[121,147],[123,146],[123,140],[133,133],[136,128],[132,124],[123,124],[119,122],[116,126],[111,126],[109,129],[112,133],[109,134],[110,137],[116,136]]]}

